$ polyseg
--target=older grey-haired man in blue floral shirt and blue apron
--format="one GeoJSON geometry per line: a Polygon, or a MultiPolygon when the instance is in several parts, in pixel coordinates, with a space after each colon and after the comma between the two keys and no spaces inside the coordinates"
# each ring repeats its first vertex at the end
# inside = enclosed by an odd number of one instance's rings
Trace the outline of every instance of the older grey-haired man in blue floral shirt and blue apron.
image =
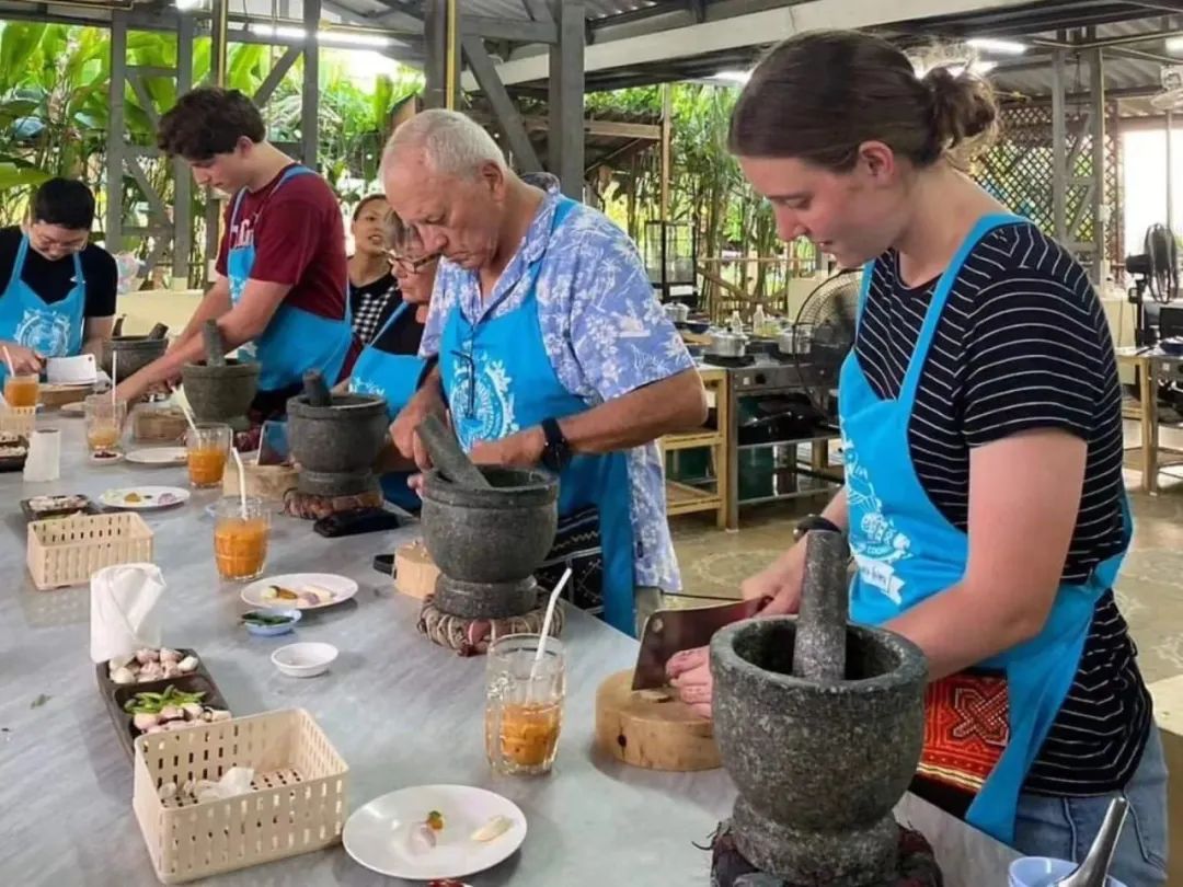
{"type": "Polygon", "coordinates": [[[554,177],[516,176],[464,115],[412,118],[383,163],[390,205],[444,257],[421,345],[439,367],[395,444],[424,465],[413,429],[446,404],[476,461],[558,472],[552,561],[582,564],[576,603],[634,633],[680,588],[655,440],[706,415],[636,248],[554,177]]]}

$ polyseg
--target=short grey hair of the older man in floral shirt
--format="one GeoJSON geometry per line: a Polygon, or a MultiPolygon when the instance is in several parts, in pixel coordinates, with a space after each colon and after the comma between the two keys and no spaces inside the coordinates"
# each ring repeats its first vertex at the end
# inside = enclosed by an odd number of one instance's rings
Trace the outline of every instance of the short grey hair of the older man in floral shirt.
{"type": "Polygon", "coordinates": [[[479,123],[459,111],[434,108],[401,123],[382,151],[382,169],[395,155],[420,149],[432,170],[460,177],[474,176],[484,163],[506,169],[505,155],[479,123]]]}

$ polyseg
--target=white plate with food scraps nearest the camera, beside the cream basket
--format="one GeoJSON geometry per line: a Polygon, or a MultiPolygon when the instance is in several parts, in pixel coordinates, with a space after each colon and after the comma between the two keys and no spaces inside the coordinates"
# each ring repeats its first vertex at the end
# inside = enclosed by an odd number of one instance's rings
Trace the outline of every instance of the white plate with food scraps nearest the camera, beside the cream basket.
{"type": "Polygon", "coordinates": [[[525,815],[500,795],[467,785],[416,785],[374,798],[345,822],[345,852],[368,869],[389,878],[433,881],[466,878],[484,872],[510,855],[525,841],[525,815]],[[438,810],[444,829],[435,847],[412,847],[411,831],[438,810]],[[472,833],[494,816],[512,824],[498,837],[481,843],[472,833]]]}

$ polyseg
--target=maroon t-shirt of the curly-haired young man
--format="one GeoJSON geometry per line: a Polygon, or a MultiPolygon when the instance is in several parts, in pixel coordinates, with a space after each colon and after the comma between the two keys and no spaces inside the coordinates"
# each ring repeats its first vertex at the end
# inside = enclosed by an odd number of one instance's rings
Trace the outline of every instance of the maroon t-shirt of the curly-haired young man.
{"type": "Polygon", "coordinates": [[[292,289],[284,298],[285,305],[319,317],[344,317],[349,272],[337,198],[324,179],[308,173],[292,176],[277,189],[290,168],[259,190],[243,195],[233,227],[234,200],[227,202],[218,273],[226,274],[226,257],[232,247],[253,239],[252,279],[289,284],[292,289]]]}

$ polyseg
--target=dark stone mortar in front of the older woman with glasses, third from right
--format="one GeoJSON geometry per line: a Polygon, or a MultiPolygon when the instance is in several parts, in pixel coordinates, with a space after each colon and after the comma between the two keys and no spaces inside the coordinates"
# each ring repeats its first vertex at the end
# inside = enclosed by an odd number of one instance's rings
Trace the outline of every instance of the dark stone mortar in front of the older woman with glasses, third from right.
{"type": "Polygon", "coordinates": [[[299,491],[311,496],[355,496],[373,488],[374,461],[386,441],[386,400],[334,395],[313,407],[304,395],[287,401],[287,441],[300,466],[299,491]]]}

